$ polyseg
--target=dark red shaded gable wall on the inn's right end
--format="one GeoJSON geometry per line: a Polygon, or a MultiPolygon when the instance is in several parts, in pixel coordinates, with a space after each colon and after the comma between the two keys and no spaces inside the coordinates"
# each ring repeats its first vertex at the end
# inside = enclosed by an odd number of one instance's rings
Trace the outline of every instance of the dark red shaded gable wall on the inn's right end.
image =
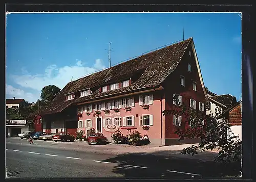
{"type": "MultiPolygon", "coordinates": [[[[177,93],[182,95],[182,102],[189,107],[190,98],[196,100],[196,109],[198,110],[199,101],[205,103],[205,95],[201,82],[199,79],[199,74],[197,70],[197,65],[195,58],[193,56],[193,51],[189,45],[183,59],[175,69],[175,71],[170,74],[165,83],[165,109],[169,110],[174,108],[173,106],[173,94],[177,93]],[[191,57],[188,55],[188,51],[191,50],[191,57]],[[188,72],[188,63],[191,65],[191,72],[188,72]],[[180,75],[185,77],[185,87],[180,85],[180,75]],[[193,81],[197,82],[197,91],[193,90],[193,81]]],[[[205,107],[204,107],[205,108],[205,107]]],[[[165,116],[165,139],[168,138],[178,138],[177,134],[174,134],[177,131],[177,127],[181,129],[189,127],[188,124],[184,125],[184,122],[187,118],[182,116],[182,126],[173,125],[173,115],[165,116]]]]}

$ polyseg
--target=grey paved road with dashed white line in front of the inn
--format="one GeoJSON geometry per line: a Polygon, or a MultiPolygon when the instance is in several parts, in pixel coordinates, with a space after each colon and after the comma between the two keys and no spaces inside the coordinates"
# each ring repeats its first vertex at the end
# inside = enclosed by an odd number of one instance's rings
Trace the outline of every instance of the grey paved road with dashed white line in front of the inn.
{"type": "Polygon", "coordinates": [[[7,176],[191,178],[223,173],[223,168],[209,162],[154,154],[102,153],[77,150],[76,147],[75,144],[46,141],[30,145],[26,140],[6,139],[7,176]]]}

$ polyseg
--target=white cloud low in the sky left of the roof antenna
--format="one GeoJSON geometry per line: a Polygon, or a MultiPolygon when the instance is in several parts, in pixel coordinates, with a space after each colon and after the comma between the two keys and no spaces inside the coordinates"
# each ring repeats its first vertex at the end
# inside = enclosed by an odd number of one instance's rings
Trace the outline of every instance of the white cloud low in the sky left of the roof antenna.
{"type": "Polygon", "coordinates": [[[60,89],[65,87],[67,83],[78,79],[79,77],[88,75],[92,72],[104,69],[105,66],[101,59],[95,60],[93,67],[84,67],[81,60],[76,60],[74,66],[57,67],[56,65],[50,65],[45,69],[43,74],[30,74],[28,71],[23,69],[23,75],[10,74],[10,77],[14,83],[24,89],[16,89],[11,85],[7,86],[6,93],[11,96],[19,96],[27,98],[29,101],[36,101],[41,93],[41,89],[48,85],[56,85],[60,89]],[[25,92],[24,90],[30,90],[25,92]],[[36,94],[32,94],[31,92],[36,94]]]}

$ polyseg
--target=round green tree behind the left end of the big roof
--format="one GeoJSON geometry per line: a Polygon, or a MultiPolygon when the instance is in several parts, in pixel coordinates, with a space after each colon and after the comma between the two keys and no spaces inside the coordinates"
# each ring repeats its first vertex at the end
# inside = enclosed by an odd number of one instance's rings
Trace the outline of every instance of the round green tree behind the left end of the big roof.
{"type": "Polygon", "coordinates": [[[60,92],[60,89],[55,85],[48,85],[42,88],[41,92],[41,105],[48,105],[60,92]]]}

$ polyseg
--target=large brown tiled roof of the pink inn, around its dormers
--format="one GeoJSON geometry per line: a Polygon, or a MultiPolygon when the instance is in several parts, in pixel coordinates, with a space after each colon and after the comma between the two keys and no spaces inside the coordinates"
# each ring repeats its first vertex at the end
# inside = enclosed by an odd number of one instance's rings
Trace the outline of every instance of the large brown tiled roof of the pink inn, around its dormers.
{"type": "Polygon", "coordinates": [[[56,113],[62,111],[73,103],[131,90],[159,86],[164,79],[176,69],[191,40],[192,38],[189,38],[70,82],[53,99],[52,104],[45,110],[42,110],[41,113],[56,113]],[[140,77],[130,86],[102,93],[99,92],[98,88],[100,86],[130,79],[136,72],[139,73],[140,77]],[[66,100],[65,94],[87,88],[91,88],[92,90],[95,88],[95,90],[93,90],[91,95],[66,100]]]}

